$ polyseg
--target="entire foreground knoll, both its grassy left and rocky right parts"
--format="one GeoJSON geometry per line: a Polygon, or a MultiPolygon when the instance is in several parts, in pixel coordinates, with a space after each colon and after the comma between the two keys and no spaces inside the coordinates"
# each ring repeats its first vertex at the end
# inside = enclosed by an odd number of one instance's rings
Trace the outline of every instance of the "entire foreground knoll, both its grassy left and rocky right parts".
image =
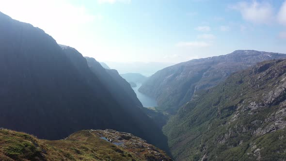
{"type": "Polygon", "coordinates": [[[143,139],[111,129],[81,130],[55,141],[0,129],[0,144],[1,161],[172,161],[143,139]]]}

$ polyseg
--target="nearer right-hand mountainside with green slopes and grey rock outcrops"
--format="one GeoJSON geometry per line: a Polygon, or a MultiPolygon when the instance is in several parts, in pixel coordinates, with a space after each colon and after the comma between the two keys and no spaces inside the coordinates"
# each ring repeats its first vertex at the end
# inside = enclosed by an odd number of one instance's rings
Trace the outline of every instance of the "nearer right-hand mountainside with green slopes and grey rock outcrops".
{"type": "Polygon", "coordinates": [[[286,159],[286,59],[197,92],[163,128],[177,161],[286,159]]]}

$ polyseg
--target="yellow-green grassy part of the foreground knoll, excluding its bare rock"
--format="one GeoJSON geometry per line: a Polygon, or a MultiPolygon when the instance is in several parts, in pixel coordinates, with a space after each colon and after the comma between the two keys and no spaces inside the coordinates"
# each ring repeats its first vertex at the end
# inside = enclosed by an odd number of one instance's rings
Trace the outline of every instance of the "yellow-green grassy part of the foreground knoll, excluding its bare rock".
{"type": "Polygon", "coordinates": [[[65,140],[48,141],[0,129],[0,161],[142,161],[152,157],[139,150],[113,145],[88,130],[65,140]]]}

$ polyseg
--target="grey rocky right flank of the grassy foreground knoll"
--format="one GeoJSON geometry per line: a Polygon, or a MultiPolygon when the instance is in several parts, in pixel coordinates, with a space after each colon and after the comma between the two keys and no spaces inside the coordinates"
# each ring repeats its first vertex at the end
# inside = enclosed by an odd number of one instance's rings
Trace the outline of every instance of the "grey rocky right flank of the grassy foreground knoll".
{"type": "Polygon", "coordinates": [[[148,144],[145,140],[130,133],[118,132],[112,129],[91,129],[89,132],[97,135],[101,139],[111,142],[114,145],[123,147],[138,156],[144,156],[146,161],[172,161],[164,151],[154,145],[148,144]]]}

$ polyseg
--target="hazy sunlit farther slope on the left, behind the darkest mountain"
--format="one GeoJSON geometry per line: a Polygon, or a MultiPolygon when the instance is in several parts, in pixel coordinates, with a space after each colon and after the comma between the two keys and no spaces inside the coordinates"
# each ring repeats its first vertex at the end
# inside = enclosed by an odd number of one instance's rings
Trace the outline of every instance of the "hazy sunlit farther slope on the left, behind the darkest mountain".
{"type": "MultiPolygon", "coordinates": [[[[127,120],[132,121],[132,127],[137,126],[136,129],[129,129],[130,125],[127,125],[127,127],[118,125],[118,127],[115,127],[116,129],[119,127],[124,128],[124,131],[140,136],[149,143],[157,145],[168,152],[166,137],[154,124],[153,120],[143,112],[143,106],[130,84],[116,70],[104,69],[94,58],[82,57],[75,48],[67,46],[62,46],[62,48],[66,56],[77,67],[82,76],[85,77],[85,80],[88,80],[91,87],[98,85],[94,80],[94,78],[97,78],[102,83],[102,86],[111,93],[111,97],[122,107],[122,114],[116,112],[116,110],[111,111],[111,113],[118,113],[117,117],[128,116],[127,120]]],[[[117,117],[113,118],[124,120],[117,117]]]]}

